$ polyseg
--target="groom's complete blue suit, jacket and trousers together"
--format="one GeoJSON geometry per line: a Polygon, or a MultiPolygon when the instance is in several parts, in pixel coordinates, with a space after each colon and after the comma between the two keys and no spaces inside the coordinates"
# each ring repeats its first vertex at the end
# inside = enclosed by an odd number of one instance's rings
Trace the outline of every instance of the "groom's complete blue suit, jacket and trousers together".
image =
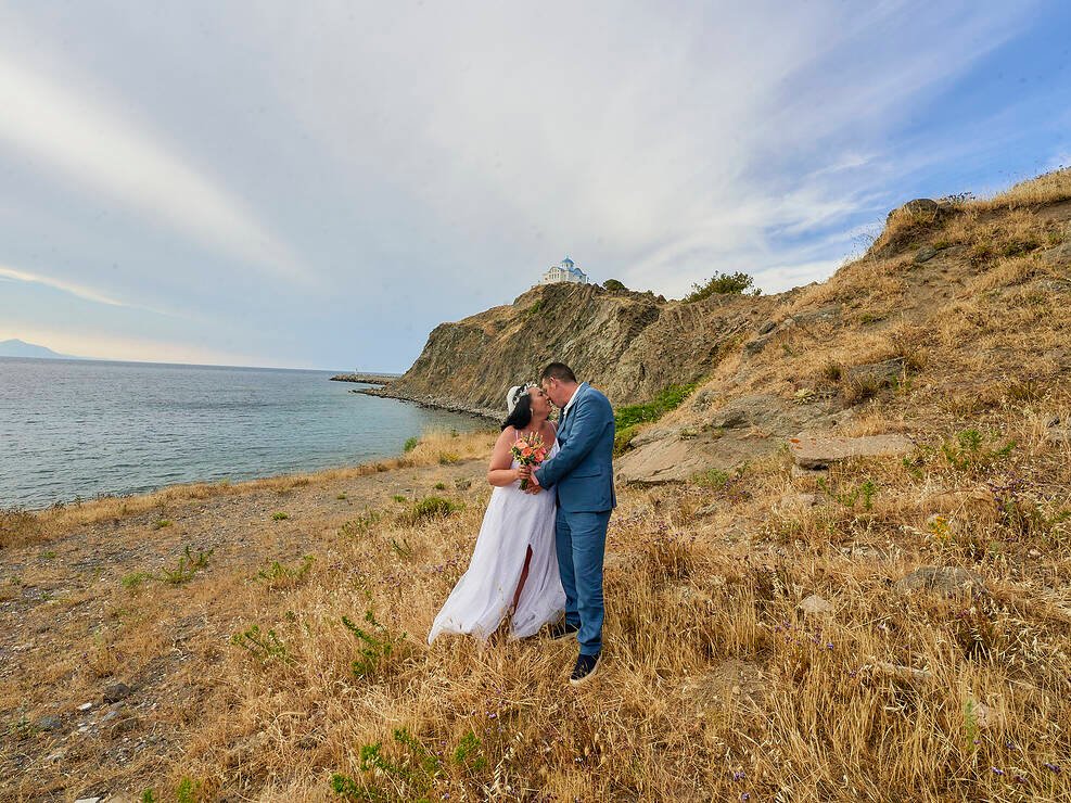
{"type": "Polygon", "coordinates": [[[544,488],[558,496],[556,546],[565,589],[565,621],[579,627],[581,653],[602,650],[602,561],[613,489],[613,408],[586,382],[558,431],[558,454],[535,471],[544,488]]]}

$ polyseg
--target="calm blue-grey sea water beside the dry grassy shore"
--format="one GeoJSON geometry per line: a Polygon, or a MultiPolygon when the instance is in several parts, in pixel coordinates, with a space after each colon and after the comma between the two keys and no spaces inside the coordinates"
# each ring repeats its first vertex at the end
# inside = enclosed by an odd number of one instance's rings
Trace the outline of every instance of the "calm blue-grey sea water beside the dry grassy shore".
{"type": "Polygon", "coordinates": [[[331,375],[0,357],[0,507],[352,466],[486,425],[331,375]]]}

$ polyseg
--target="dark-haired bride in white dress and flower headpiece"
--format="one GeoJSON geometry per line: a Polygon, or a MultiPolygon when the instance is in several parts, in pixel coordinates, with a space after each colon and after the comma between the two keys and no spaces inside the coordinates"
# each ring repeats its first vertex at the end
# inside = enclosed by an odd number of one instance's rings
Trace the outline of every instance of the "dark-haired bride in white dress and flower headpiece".
{"type": "Polygon", "coordinates": [[[543,437],[548,460],[558,454],[557,431],[547,420],[550,403],[538,386],[518,385],[506,395],[506,408],[508,418],[487,470],[495,489],[472,560],[435,617],[428,643],[442,633],[486,641],[510,610],[510,637],[526,638],[565,611],[554,552],[554,494],[521,490],[519,466],[510,454],[517,438],[532,432],[543,437]]]}

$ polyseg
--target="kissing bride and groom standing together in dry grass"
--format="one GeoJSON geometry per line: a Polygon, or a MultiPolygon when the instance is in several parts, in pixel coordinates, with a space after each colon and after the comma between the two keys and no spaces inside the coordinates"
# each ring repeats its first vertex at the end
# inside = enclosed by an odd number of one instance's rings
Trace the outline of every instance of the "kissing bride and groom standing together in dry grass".
{"type": "Polygon", "coordinates": [[[613,489],[614,419],[610,401],[569,366],[551,362],[538,385],[506,396],[507,418],[487,470],[492,492],[469,569],[435,617],[428,642],[443,633],[486,641],[510,617],[510,637],[550,625],[551,638],[575,636],[579,654],[570,684],[579,686],[602,654],[602,561],[613,489]],[[549,420],[550,405],[560,410],[549,420]],[[546,459],[525,466],[519,439],[541,438],[546,459]],[[523,487],[522,487],[523,486],[523,487]]]}

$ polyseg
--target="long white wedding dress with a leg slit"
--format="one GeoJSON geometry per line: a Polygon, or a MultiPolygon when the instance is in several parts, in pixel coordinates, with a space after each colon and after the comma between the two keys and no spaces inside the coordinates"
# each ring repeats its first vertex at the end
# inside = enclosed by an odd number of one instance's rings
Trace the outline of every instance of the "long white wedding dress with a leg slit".
{"type": "MultiPolygon", "coordinates": [[[[557,454],[556,441],[547,459],[557,454]]],[[[513,468],[517,467],[514,460],[513,468]]],[[[486,641],[513,603],[528,547],[532,561],[513,612],[510,637],[534,636],[545,624],[562,616],[565,591],[554,551],[557,507],[552,492],[525,494],[520,482],[492,492],[469,570],[435,617],[428,643],[443,633],[470,634],[486,641]]]]}

